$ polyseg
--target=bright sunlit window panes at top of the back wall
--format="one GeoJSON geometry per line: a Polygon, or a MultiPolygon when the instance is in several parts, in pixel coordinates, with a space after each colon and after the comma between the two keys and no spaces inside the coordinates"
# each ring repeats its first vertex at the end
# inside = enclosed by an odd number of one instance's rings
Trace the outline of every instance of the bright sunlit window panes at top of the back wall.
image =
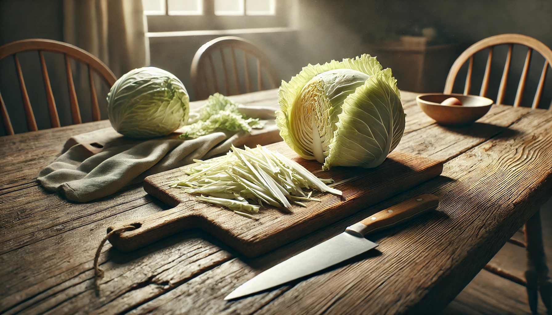
{"type": "Polygon", "coordinates": [[[276,0],[142,0],[145,15],[275,15],[276,0]]]}

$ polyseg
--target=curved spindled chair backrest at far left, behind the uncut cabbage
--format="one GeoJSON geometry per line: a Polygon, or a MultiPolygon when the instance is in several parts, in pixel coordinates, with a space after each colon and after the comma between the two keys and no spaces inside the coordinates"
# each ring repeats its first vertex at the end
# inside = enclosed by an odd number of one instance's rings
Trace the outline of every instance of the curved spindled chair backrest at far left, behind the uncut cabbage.
{"type": "MultiPolygon", "coordinates": [[[[17,77],[19,79],[19,87],[21,89],[21,95],[23,98],[23,107],[25,109],[25,116],[27,125],[30,131],[38,130],[36,127],[36,120],[33,114],[33,109],[29,102],[29,95],[25,87],[25,81],[23,79],[23,72],[21,71],[21,65],[19,64],[19,59],[17,54],[24,51],[38,51],[38,57],[40,59],[40,67],[42,68],[42,74],[44,79],[44,88],[46,90],[46,101],[48,104],[48,110],[50,113],[50,122],[52,127],[59,127],[60,120],[57,115],[56,103],[54,100],[54,95],[52,94],[52,88],[50,86],[50,78],[48,76],[48,71],[46,69],[46,63],[44,61],[44,51],[56,52],[63,54],[65,57],[65,68],[67,73],[67,84],[69,90],[69,100],[71,104],[71,117],[73,124],[81,124],[81,113],[78,108],[77,94],[75,92],[75,83],[73,83],[73,74],[71,70],[71,64],[69,58],[73,58],[79,62],[82,62],[88,66],[88,78],[90,81],[90,94],[91,94],[91,103],[92,103],[92,119],[94,121],[100,120],[100,110],[98,106],[98,99],[94,88],[94,81],[92,79],[92,70],[97,72],[100,77],[102,77],[105,83],[109,87],[113,86],[116,81],[115,75],[109,68],[98,58],[91,55],[89,52],[84,51],[76,46],[67,44],[61,41],[49,40],[49,39],[24,39],[14,42],[10,42],[4,46],[0,47],[0,60],[5,57],[13,56],[15,62],[15,70],[17,71],[17,77]]],[[[6,110],[6,104],[2,99],[2,94],[0,94],[0,114],[2,115],[2,120],[4,122],[4,128],[6,129],[6,134],[13,135],[12,122],[9,119],[8,111],[6,110]]]]}

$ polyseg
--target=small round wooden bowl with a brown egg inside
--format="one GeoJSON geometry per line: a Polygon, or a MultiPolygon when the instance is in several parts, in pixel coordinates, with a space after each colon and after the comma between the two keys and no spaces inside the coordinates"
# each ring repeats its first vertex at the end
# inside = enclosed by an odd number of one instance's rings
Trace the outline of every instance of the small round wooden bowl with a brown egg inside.
{"type": "Polygon", "coordinates": [[[457,126],[471,124],[485,116],[491,109],[493,100],[477,95],[427,93],[416,97],[418,106],[439,125],[457,126]],[[455,97],[462,106],[441,105],[443,100],[455,97]]]}

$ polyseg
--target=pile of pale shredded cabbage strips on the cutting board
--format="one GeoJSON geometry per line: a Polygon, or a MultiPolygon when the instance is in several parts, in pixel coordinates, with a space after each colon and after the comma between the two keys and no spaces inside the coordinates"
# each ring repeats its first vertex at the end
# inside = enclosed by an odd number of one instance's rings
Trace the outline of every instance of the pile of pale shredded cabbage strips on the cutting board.
{"type": "Polygon", "coordinates": [[[232,146],[226,156],[194,162],[198,164],[183,168],[188,177],[169,186],[197,195],[195,200],[226,206],[250,218],[254,217],[246,212],[257,213],[263,204],[290,208],[291,204],[306,207],[304,201],[320,201],[304,189],[342,195],[340,190],[326,186],[333,180],[317,178],[299,163],[260,145],[245,150],[232,146]]]}

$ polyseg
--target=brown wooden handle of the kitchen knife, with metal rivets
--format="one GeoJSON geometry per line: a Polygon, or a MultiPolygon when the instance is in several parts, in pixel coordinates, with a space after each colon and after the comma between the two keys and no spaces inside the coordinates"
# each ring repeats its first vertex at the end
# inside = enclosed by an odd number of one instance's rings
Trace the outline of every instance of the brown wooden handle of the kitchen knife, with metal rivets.
{"type": "Polygon", "coordinates": [[[346,231],[357,236],[365,236],[368,233],[403,223],[426,211],[434,210],[438,205],[439,198],[434,195],[413,197],[349,226],[346,231]]]}

